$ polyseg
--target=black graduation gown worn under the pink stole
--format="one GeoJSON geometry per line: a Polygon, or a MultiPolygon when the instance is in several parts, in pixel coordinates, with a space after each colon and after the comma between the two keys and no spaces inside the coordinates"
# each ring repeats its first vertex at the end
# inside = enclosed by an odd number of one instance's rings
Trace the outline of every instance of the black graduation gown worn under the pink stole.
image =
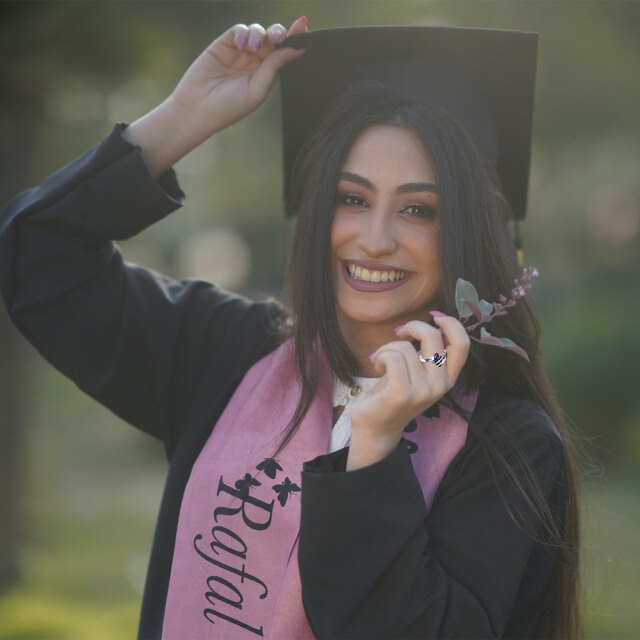
{"type": "MultiPolygon", "coordinates": [[[[275,348],[278,311],[273,301],[124,262],[114,241],[185,199],[173,169],[150,175],[126,126],[3,208],[0,291],[12,321],[56,369],[164,443],[168,474],[138,631],[159,638],[191,466],[243,375],[275,348]]],[[[508,481],[475,436],[488,420],[518,439],[509,458],[529,456],[561,524],[563,443],[530,400],[481,390],[429,513],[405,441],[355,471],[344,471],[348,448],[307,461],[298,560],[318,638],[534,637],[536,599],[556,553],[510,518],[498,488],[508,481]]]]}

